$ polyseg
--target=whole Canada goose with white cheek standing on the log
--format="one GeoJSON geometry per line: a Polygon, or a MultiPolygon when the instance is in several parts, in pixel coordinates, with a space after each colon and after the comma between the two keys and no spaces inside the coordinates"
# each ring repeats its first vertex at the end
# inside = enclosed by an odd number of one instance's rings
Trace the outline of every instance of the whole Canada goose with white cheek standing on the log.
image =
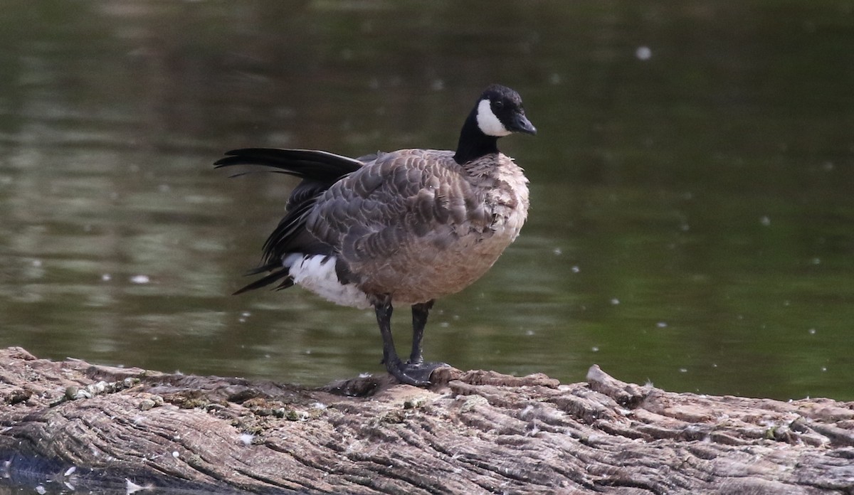
{"type": "Polygon", "coordinates": [[[401,149],[358,159],[307,149],[245,148],[214,165],[259,165],[302,178],[264,244],[266,274],[235,294],[301,285],[343,306],[373,307],[383,363],[399,381],[430,384],[421,339],[433,301],[476,281],[528,215],[528,180],[499,137],[535,134],[518,93],[492,84],[477,99],[457,150],[401,149]],[[412,352],[391,335],[392,302],[412,306],[412,352]]]}

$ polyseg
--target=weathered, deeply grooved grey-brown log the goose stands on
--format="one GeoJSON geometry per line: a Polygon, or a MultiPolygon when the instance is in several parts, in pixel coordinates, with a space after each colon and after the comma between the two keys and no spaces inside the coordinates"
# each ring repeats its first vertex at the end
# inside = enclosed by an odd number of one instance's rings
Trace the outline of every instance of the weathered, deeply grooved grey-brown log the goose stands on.
{"type": "Polygon", "coordinates": [[[854,493],[854,403],[437,370],[322,389],[0,351],[13,482],[104,492],[854,493]]]}

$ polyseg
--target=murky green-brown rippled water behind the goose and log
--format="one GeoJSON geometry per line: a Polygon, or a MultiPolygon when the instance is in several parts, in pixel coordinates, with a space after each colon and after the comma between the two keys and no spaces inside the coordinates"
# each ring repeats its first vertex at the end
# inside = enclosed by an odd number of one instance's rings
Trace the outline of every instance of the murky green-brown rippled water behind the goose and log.
{"type": "Polygon", "coordinates": [[[501,142],[529,224],[426,358],[854,399],[854,2],[13,2],[0,45],[0,346],[381,372],[372,312],[229,295],[294,183],[211,163],[453,148],[501,82],[540,131],[501,142]]]}

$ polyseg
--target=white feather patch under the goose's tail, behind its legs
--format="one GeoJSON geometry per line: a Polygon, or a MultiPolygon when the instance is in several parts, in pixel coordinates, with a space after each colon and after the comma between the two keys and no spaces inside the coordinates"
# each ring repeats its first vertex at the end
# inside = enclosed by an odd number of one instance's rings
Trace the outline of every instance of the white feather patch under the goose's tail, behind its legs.
{"type": "Polygon", "coordinates": [[[354,283],[343,284],[338,281],[335,256],[291,253],[284,259],[284,265],[290,268],[290,276],[294,277],[295,283],[325,300],[360,309],[371,307],[367,295],[356,288],[354,283]]]}

